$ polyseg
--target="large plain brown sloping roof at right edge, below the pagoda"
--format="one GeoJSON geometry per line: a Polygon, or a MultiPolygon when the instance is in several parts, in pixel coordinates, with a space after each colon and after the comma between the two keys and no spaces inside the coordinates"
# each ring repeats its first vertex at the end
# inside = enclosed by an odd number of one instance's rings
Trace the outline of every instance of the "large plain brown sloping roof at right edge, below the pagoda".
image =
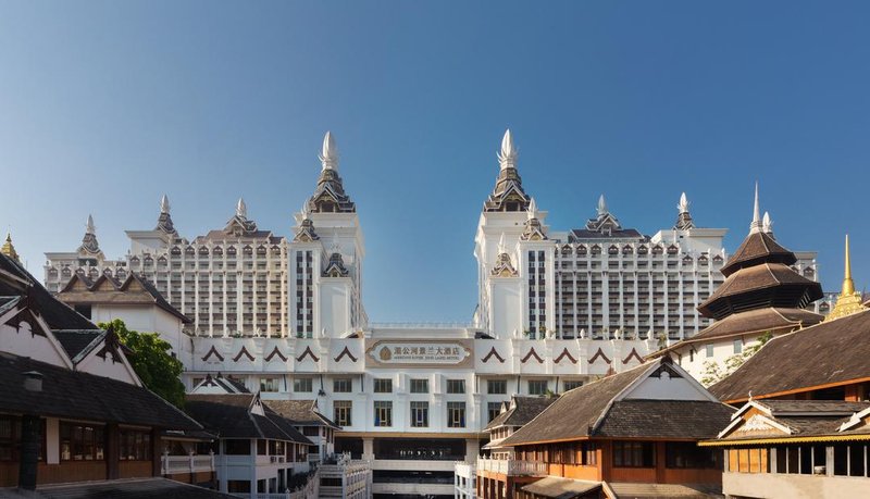
{"type": "Polygon", "coordinates": [[[869,336],[870,310],[773,338],[709,390],[731,402],[870,378],[869,336]]]}

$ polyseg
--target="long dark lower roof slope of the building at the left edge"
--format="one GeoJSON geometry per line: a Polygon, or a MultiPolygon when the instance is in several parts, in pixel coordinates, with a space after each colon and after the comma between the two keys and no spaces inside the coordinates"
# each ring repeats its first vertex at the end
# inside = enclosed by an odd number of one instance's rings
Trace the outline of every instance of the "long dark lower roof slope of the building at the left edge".
{"type": "Polygon", "coordinates": [[[202,429],[146,388],[0,352],[0,411],[153,426],[202,429]],[[24,388],[24,373],[42,375],[42,391],[24,388]]]}

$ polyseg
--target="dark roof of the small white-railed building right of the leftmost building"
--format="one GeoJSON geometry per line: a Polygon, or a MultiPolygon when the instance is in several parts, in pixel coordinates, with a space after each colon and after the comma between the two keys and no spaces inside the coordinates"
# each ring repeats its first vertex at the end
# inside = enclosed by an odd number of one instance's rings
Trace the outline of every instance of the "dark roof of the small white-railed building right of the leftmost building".
{"type": "Polygon", "coordinates": [[[256,398],[256,394],[188,395],[185,409],[221,438],[270,438],[311,445],[291,421],[268,406],[263,404],[264,415],[253,413],[256,398]]]}

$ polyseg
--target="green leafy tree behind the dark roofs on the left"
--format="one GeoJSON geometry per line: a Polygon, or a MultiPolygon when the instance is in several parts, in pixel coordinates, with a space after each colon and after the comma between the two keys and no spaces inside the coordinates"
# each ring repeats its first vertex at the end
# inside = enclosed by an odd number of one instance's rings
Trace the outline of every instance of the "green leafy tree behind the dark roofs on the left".
{"type": "Polygon", "coordinates": [[[99,326],[102,329],[114,328],[121,342],[133,351],[127,360],[146,388],[177,408],[184,407],[184,384],[181,382],[184,365],[170,353],[170,344],[160,339],[157,333],[127,329],[120,319],[99,326]]]}

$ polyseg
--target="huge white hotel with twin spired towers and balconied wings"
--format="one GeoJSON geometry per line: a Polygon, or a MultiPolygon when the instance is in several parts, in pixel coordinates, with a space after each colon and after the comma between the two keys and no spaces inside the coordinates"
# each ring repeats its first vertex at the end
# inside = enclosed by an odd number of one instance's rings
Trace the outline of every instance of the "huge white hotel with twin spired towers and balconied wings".
{"type": "MultiPolygon", "coordinates": [[[[477,454],[502,402],[621,372],[660,340],[697,333],[695,307],[728,260],[725,230],[695,227],[685,197],[674,227],[651,237],[623,228],[604,197],[583,228],[550,230],[523,190],[510,132],[498,158],[465,327],[370,327],[362,228],[330,134],[290,238],[258,229],[239,200],[223,229],[188,240],[164,197],[153,230],[127,232],[124,259],[104,258],[89,221],[76,251],[46,253],[46,284],[140,273],[192,320],[188,388],[221,372],[264,399],[315,399],[344,428],[336,451],[372,460],[375,496],[452,496],[453,461],[477,454]]],[[[797,265],[816,277],[806,257],[797,265]]]]}

